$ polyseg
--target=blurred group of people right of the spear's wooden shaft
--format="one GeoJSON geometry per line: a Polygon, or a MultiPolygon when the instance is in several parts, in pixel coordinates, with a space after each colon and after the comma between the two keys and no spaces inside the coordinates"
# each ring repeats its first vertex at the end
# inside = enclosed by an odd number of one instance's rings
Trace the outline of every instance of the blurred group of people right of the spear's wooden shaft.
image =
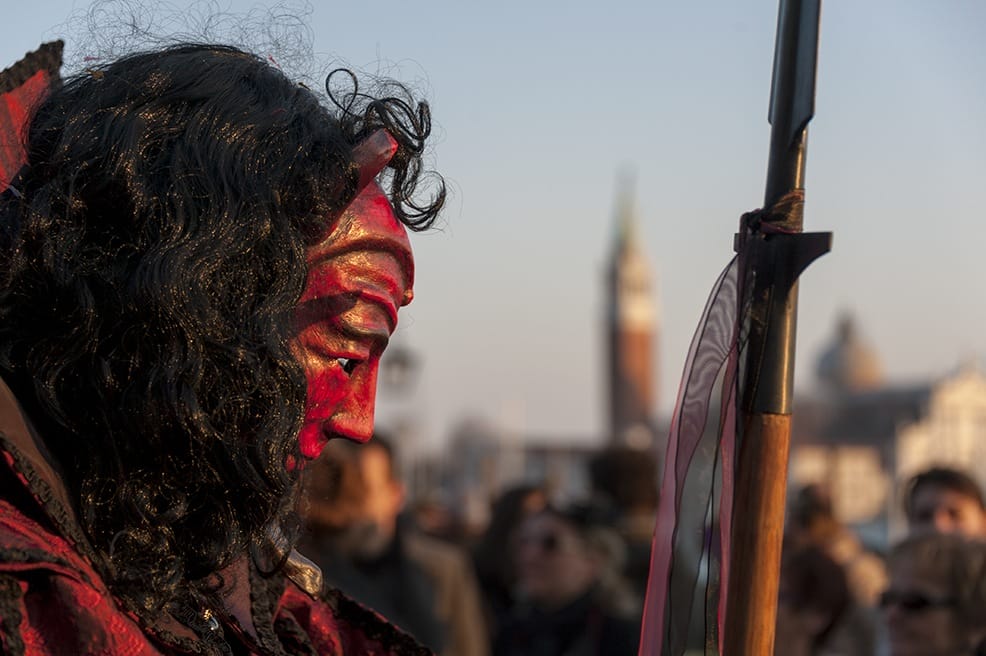
{"type": "Polygon", "coordinates": [[[906,482],[907,536],[863,548],[824,488],[791,504],[775,654],[986,655],[986,506],[966,473],[936,467],[906,482]]]}

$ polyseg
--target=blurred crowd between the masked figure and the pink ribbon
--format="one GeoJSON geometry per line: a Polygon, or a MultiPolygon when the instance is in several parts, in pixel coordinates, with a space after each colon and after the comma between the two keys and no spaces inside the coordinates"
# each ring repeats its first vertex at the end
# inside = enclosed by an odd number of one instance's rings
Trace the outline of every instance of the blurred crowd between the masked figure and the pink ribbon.
{"type": "Polygon", "coordinates": [[[484,530],[408,507],[395,445],[333,441],[304,472],[299,550],[326,581],[441,656],[635,656],[657,512],[652,457],[597,454],[592,492],[522,485],[484,530]]]}

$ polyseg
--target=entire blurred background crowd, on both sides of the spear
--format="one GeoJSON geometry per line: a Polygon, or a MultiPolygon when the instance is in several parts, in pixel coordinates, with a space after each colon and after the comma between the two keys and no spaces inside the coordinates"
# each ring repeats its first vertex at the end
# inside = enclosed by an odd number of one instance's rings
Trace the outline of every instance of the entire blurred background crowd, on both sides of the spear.
{"type": "MultiPolygon", "coordinates": [[[[408,507],[394,445],[333,442],[305,472],[300,546],[326,580],[441,656],[637,653],[658,502],[656,461],[608,448],[591,492],[523,485],[477,533],[408,507]]],[[[789,504],[775,654],[986,656],[986,504],[933,468],[906,483],[908,535],[865,548],[821,486],[789,504]]]]}

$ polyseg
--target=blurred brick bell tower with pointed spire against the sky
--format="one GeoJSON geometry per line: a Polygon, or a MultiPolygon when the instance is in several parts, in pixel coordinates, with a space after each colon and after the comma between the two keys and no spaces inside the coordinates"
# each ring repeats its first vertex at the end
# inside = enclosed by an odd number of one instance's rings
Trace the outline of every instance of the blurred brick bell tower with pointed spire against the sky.
{"type": "Polygon", "coordinates": [[[636,214],[633,185],[624,179],[617,194],[616,234],[606,279],[609,439],[644,449],[652,448],[655,439],[658,307],[636,214]]]}

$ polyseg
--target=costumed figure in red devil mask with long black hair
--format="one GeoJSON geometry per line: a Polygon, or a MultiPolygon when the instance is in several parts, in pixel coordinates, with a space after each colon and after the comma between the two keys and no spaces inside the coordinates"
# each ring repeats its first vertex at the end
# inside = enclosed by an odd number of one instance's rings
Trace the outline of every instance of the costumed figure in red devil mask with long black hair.
{"type": "Polygon", "coordinates": [[[405,228],[444,201],[415,200],[426,105],[329,99],[193,44],[22,108],[0,158],[23,154],[0,171],[0,653],[427,653],[292,549],[304,459],[370,436],[405,228]]]}

